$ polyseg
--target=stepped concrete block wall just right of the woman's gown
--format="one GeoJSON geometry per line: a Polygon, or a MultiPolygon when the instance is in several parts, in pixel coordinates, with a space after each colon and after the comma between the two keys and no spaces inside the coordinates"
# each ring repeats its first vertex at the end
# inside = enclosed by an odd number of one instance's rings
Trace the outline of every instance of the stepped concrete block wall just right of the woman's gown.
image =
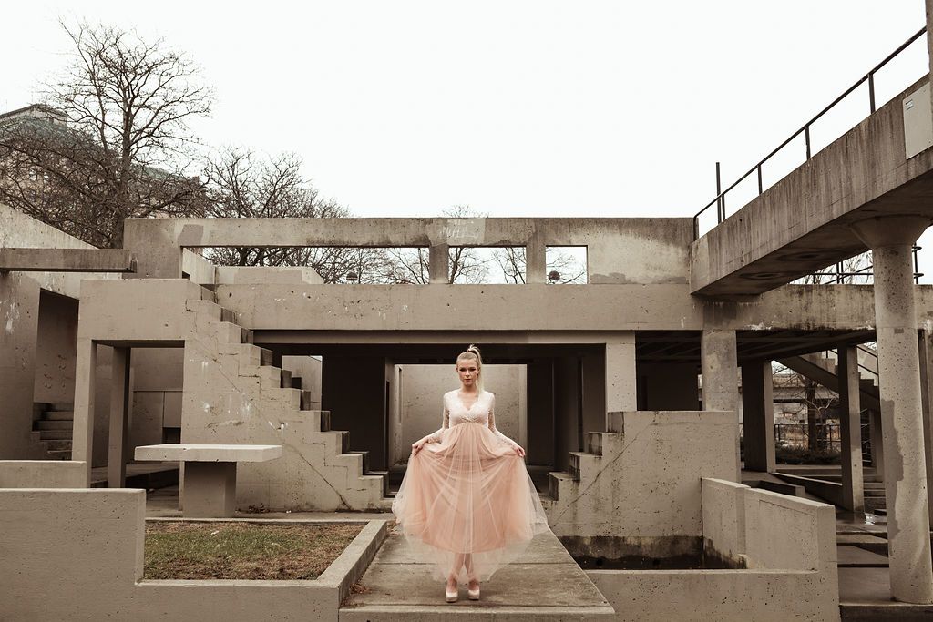
{"type": "MultiPolygon", "coordinates": [[[[559,536],[620,536],[640,550],[703,532],[701,477],[734,472],[734,412],[611,413],[599,454],[579,454],[579,480],[544,498],[559,536]]],[[[595,448],[592,448],[595,449],[595,448]]]]}

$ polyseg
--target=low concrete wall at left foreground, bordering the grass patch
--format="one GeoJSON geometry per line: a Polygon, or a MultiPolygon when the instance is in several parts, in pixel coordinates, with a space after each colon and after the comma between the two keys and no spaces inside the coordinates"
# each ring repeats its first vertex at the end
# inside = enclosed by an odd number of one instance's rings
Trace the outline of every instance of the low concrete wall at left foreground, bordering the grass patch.
{"type": "Polygon", "coordinates": [[[383,542],[372,520],[313,581],[142,580],[145,491],[0,490],[0,618],[336,622],[383,542]],[[67,581],[49,582],[49,576],[67,581]]]}

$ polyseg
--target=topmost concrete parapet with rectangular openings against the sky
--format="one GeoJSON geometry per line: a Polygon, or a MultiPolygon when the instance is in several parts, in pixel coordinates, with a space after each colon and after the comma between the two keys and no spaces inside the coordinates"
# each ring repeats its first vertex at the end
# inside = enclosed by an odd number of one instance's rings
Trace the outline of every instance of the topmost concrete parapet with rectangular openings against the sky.
{"type": "Polygon", "coordinates": [[[430,249],[431,283],[447,282],[450,246],[526,246],[529,283],[544,283],[547,246],[588,246],[590,283],[687,283],[690,218],[172,218],[128,219],[138,276],[181,276],[181,249],[371,246],[430,249]]]}

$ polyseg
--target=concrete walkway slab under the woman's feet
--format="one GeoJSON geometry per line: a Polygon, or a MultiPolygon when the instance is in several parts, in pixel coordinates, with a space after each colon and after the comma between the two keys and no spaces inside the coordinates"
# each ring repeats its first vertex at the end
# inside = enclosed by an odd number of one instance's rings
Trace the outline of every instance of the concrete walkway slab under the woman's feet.
{"type": "Polygon", "coordinates": [[[341,620],[590,620],[615,613],[552,532],[537,535],[522,558],[484,582],[480,601],[468,601],[461,586],[459,601],[444,602],[443,584],[397,531],[389,532],[358,583],[364,591],[343,603],[341,620]]]}

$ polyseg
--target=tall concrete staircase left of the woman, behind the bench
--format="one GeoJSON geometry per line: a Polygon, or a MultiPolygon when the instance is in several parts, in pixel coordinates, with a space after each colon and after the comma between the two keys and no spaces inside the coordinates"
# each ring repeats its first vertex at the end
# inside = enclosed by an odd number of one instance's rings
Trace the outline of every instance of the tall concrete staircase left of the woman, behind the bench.
{"type": "Polygon", "coordinates": [[[387,479],[369,471],[369,454],[349,449],[349,432],[330,429],[330,413],[310,408],[311,393],[272,365],[272,351],[204,289],[188,300],[195,339],[186,340],[182,439],[188,443],[283,445],[272,463],[243,463],[241,508],[387,510],[387,479]],[[285,464],[282,463],[285,461],[285,464]]]}

